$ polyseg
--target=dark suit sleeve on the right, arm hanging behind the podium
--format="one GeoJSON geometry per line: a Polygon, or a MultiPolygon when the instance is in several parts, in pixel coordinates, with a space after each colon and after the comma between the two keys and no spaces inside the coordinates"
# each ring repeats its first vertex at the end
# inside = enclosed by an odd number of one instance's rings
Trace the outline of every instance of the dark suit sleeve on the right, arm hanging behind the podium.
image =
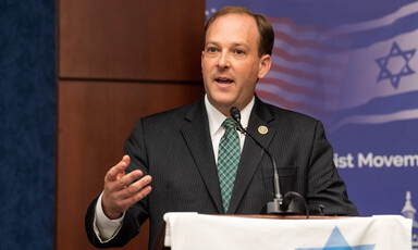
{"type": "Polygon", "coordinates": [[[307,182],[307,201],[311,214],[319,214],[319,207],[322,205],[324,215],[358,215],[334,165],[333,150],[320,122],[317,122],[312,138],[307,182]]]}

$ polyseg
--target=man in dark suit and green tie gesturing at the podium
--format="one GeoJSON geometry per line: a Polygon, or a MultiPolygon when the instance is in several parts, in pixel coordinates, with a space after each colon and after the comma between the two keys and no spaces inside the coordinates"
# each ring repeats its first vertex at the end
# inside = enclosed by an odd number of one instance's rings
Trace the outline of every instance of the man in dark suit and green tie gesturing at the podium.
{"type": "Polygon", "coordinates": [[[273,199],[271,162],[243,135],[235,140],[239,160],[230,192],[223,186],[221,137],[228,128],[222,123],[232,107],[275,159],[283,193],[300,193],[312,214],[322,207],[325,215],[357,215],[321,123],[255,96],[258,79],[270,70],[273,40],[271,25],[243,8],[224,8],[208,21],[201,52],[206,96],[138,121],[126,155],[107,173],[102,195],[87,211],[86,230],[95,246],[123,246],[149,218],[152,248],[167,212],[265,211],[273,199]]]}

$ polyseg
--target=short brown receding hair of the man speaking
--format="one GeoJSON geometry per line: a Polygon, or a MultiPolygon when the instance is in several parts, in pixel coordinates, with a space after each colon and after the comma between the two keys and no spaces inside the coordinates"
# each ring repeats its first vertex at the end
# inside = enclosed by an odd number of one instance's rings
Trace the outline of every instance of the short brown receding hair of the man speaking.
{"type": "Polygon", "coordinates": [[[242,7],[224,7],[218,12],[216,12],[205,25],[205,42],[206,42],[206,34],[210,27],[210,25],[220,16],[226,14],[246,14],[253,16],[257,23],[258,33],[260,36],[260,40],[258,42],[258,55],[262,57],[265,54],[271,55],[274,45],[274,32],[271,24],[259,14],[254,14],[251,11],[242,8],[242,7]]]}

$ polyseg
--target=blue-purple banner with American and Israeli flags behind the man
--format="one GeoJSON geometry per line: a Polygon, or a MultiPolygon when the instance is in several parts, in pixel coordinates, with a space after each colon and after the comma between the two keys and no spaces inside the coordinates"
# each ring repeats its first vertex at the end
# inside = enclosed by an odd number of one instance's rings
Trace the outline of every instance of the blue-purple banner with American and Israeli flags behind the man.
{"type": "Polygon", "coordinates": [[[418,249],[418,1],[207,0],[263,14],[273,66],[258,96],[324,123],[361,215],[414,220],[418,249]]]}

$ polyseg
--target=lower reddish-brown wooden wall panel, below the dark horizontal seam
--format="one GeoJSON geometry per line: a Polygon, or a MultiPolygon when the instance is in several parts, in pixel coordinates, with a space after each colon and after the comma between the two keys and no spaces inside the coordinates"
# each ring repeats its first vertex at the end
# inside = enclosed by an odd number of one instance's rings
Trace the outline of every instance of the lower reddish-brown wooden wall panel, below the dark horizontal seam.
{"type": "MultiPolygon", "coordinates": [[[[57,249],[94,249],[84,215],[138,117],[190,103],[200,85],[59,82],[57,249]]],[[[147,249],[145,227],[124,249],[147,249]]]]}

